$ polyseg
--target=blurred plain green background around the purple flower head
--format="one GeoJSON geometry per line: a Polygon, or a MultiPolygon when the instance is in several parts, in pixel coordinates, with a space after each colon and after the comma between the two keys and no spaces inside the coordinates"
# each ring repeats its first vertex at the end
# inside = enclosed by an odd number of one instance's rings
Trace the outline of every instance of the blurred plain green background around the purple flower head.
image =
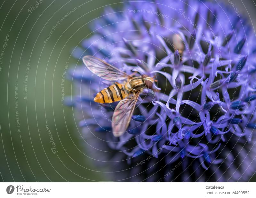
{"type": "MultiPolygon", "coordinates": [[[[67,78],[63,86],[61,82],[66,62],[69,68],[77,62],[70,57],[71,49],[90,34],[87,23],[99,17],[105,5],[121,6],[118,2],[43,0],[29,12],[30,6],[38,4],[36,0],[0,1],[0,50],[5,47],[0,52],[0,181],[106,180],[99,172],[102,169],[86,156],[75,111],[61,102],[61,87],[70,95],[71,82],[67,78]],[[44,43],[57,21],[74,8],[44,43]],[[58,151],[55,154],[46,125],[58,151]]],[[[249,15],[241,1],[232,2],[249,15]]],[[[244,2],[255,17],[251,3],[244,2]]]]}

